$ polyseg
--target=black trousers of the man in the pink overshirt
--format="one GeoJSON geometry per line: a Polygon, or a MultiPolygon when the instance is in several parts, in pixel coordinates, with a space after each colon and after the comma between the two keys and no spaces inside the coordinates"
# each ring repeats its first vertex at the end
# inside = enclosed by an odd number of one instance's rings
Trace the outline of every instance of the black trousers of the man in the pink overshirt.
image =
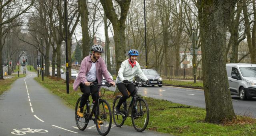
{"type": "MultiPolygon", "coordinates": [[[[99,87],[98,86],[86,86],[83,83],[79,84],[79,86],[80,86],[81,92],[83,92],[82,99],[80,101],[80,106],[79,106],[82,109],[82,108],[84,108],[84,105],[86,104],[90,93],[98,91],[99,87]]],[[[96,102],[98,100],[98,96],[99,96],[98,92],[93,93],[92,100],[94,100],[96,102]]]]}

